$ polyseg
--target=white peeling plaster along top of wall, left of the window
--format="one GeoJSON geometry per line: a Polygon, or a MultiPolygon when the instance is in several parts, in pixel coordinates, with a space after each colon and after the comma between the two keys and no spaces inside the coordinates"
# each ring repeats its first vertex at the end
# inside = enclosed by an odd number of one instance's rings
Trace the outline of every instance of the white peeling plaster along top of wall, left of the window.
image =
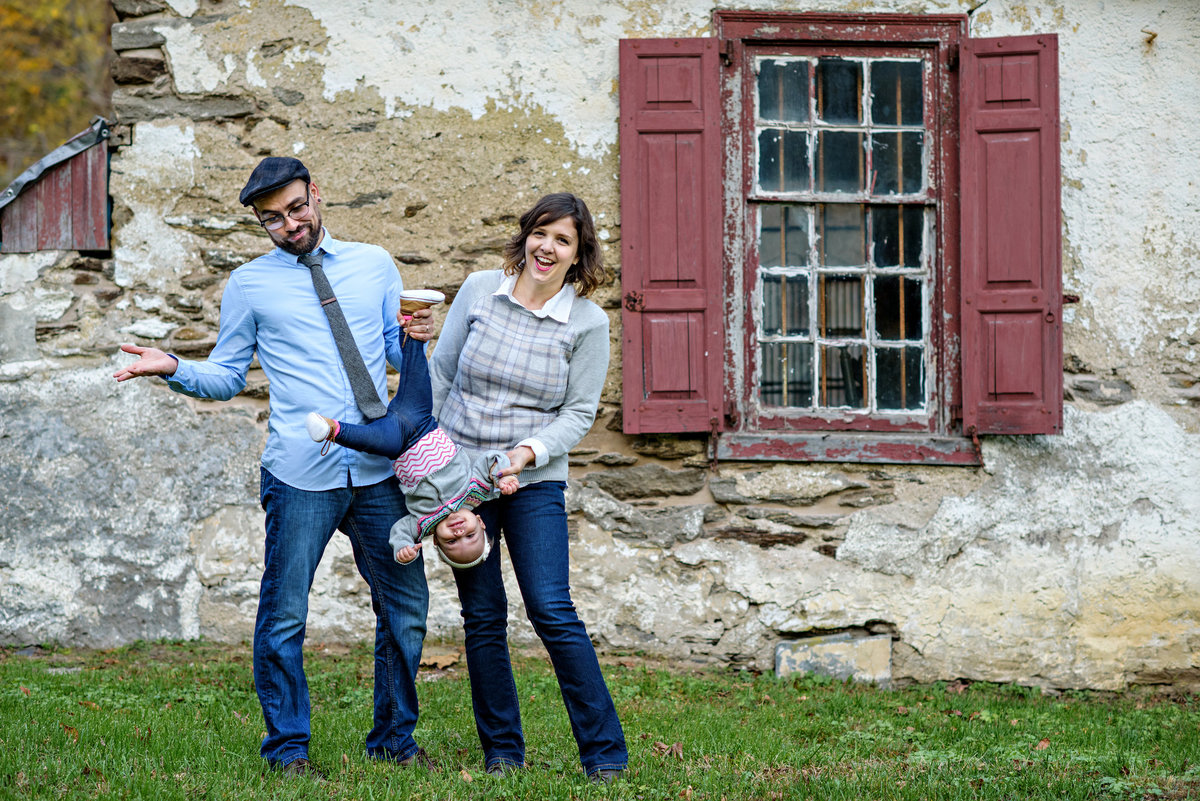
{"type": "Polygon", "coordinates": [[[568,0],[517,5],[502,0],[288,0],[307,8],[329,35],[324,97],[367,85],[389,116],[400,106],[533,109],[557,118],[571,145],[598,157],[617,141],[618,38],[680,36],[708,28],[709,4],[674,4],[643,26],[643,10],[568,0]],[[667,18],[666,14],[670,14],[667,18]]]}

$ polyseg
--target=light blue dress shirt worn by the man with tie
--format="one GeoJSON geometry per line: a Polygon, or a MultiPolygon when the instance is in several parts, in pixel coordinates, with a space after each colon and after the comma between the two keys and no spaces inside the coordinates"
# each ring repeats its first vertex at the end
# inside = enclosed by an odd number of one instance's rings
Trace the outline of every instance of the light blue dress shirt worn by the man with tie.
{"type": "MultiPolygon", "coordinates": [[[[388,403],[388,367],[402,366],[400,291],[403,283],[391,257],[380,247],[342,242],[323,229],[323,267],[362,354],[376,390],[388,403]]],[[[228,401],[246,386],[246,371],[258,363],[270,380],[271,416],[263,466],[298,489],[335,489],[378,483],[392,477],[382,456],[320,445],[305,429],[316,411],[350,423],[364,422],[350,381],[334,343],[329,319],[312,287],[312,273],[280,248],[241,265],[221,297],[221,331],[206,361],[179,360],[167,383],[196,398],[228,401]]]]}

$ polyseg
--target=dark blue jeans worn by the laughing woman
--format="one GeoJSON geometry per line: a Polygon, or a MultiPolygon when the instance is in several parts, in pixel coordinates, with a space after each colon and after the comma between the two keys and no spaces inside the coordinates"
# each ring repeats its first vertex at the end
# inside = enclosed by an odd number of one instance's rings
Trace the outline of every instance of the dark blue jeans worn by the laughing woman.
{"type": "MultiPolygon", "coordinates": [[[[499,537],[503,530],[529,621],[558,675],[584,771],[624,769],[629,757],[620,721],[595,649],[571,602],[564,487],[560,481],[533,483],[475,511],[492,536],[499,537]]],[[[509,661],[509,604],[500,577],[500,549],[492,548],[475,567],[456,570],[455,580],[484,764],[521,765],[524,737],[509,661]]]]}

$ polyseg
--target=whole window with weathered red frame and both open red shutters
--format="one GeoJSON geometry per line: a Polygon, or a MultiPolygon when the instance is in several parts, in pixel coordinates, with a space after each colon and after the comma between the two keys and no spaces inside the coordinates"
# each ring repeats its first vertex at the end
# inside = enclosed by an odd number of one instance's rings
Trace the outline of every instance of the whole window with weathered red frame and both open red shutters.
{"type": "Polygon", "coordinates": [[[625,430],[950,464],[1061,430],[1055,37],[715,28],[622,42],[625,430]]]}

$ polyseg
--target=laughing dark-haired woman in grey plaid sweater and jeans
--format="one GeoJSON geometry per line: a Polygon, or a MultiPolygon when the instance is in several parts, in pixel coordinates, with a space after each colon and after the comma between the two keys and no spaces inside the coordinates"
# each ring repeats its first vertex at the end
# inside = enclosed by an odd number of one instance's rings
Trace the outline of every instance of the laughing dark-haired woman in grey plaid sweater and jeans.
{"type": "MultiPolygon", "coordinates": [[[[608,369],[608,317],[586,300],[604,279],[592,215],[548,194],[521,216],[504,269],[467,277],[431,368],[442,427],[469,451],[508,450],[521,489],[476,510],[508,542],[534,631],[550,652],[580,760],[608,783],[628,764],[625,736],[568,583],[566,452],[595,420],[608,369]]],[[[467,637],[475,728],[488,773],[524,764],[508,646],[500,549],[455,571],[467,637]]]]}

